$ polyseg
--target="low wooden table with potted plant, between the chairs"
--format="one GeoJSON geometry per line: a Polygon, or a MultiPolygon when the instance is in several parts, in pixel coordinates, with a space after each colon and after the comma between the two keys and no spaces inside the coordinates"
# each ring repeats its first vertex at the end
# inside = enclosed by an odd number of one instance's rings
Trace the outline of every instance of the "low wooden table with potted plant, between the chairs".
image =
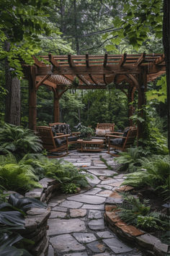
{"type": "Polygon", "coordinates": [[[91,139],[91,140],[77,140],[77,150],[81,152],[96,151],[99,152],[104,147],[104,140],[91,139]]]}

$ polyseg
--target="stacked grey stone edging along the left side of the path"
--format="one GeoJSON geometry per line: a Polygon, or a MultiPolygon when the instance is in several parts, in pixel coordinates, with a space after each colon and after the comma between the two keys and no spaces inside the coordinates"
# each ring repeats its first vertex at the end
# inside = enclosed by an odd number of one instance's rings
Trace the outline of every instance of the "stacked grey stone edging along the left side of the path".
{"type": "MultiPolygon", "coordinates": [[[[32,189],[25,194],[25,197],[32,197],[41,202],[48,202],[53,193],[59,189],[60,184],[55,179],[44,178],[39,181],[42,188],[32,189]]],[[[25,218],[25,229],[20,234],[27,239],[31,239],[35,244],[25,244],[32,255],[46,256],[48,254],[49,239],[47,236],[48,218],[50,216],[50,208],[31,208],[27,211],[25,218]]]]}

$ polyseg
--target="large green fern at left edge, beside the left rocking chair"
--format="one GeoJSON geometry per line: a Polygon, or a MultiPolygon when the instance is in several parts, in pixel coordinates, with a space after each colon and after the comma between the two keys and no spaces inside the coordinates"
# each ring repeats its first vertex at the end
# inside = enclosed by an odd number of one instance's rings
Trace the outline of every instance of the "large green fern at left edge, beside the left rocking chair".
{"type": "Polygon", "coordinates": [[[1,147],[14,153],[17,158],[42,150],[41,140],[34,131],[13,124],[4,124],[0,128],[0,143],[1,147]]]}

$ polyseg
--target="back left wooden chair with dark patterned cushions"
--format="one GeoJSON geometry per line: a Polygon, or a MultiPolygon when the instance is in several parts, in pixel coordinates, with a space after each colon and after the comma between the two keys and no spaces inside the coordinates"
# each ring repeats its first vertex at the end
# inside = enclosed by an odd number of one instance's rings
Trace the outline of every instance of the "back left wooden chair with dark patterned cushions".
{"type": "Polygon", "coordinates": [[[68,145],[75,144],[76,141],[79,140],[80,132],[71,132],[69,124],[51,123],[49,126],[52,127],[52,130],[56,135],[69,135],[68,145]]]}

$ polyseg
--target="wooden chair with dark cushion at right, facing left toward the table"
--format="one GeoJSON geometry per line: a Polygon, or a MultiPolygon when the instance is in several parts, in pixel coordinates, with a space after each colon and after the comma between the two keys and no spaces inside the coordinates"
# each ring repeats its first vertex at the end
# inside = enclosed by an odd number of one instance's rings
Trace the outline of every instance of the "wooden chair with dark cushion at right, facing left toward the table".
{"type": "Polygon", "coordinates": [[[108,151],[110,155],[118,156],[116,153],[110,153],[110,149],[125,151],[135,142],[137,135],[136,127],[126,127],[124,132],[114,132],[113,135],[106,135],[108,138],[108,151]]]}

